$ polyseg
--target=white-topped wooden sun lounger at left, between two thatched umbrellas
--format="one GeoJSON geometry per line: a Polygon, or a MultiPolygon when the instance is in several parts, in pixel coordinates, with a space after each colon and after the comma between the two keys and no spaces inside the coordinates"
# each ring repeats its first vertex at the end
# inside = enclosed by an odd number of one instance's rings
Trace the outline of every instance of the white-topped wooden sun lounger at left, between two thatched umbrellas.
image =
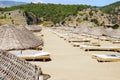
{"type": "Polygon", "coordinates": [[[10,53],[26,60],[42,59],[46,61],[46,59],[50,59],[50,53],[44,51],[25,50],[22,53],[21,51],[10,51],[10,53]]]}

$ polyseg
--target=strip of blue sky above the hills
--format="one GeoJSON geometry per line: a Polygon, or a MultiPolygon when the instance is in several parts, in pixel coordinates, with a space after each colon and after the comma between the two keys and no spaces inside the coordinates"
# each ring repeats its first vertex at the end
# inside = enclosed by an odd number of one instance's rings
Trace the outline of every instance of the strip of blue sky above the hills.
{"type": "MultiPolygon", "coordinates": [[[[4,1],[4,0],[0,0],[4,1]]],[[[9,1],[9,0],[8,0],[9,1]]],[[[13,0],[20,2],[42,2],[42,3],[56,3],[56,4],[87,4],[92,6],[105,6],[120,0],[13,0]]]]}

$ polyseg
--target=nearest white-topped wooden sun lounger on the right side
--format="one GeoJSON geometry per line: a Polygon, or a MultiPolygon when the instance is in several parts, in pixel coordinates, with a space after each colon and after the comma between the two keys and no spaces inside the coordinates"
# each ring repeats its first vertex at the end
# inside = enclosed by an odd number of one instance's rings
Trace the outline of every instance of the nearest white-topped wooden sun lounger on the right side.
{"type": "Polygon", "coordinates": [[[120,54],[92,54],[92,58],[98,62],[116,62],[120,61],[120,54]]]}

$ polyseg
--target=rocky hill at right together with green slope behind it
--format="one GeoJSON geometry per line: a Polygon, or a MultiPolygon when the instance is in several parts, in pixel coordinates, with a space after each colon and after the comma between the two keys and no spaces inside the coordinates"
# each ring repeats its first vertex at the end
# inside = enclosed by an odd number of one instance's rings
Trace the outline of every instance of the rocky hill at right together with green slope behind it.
{"type": "MultiPolygon", "coordinates": [[[[88,8],[78,11],[76,16],[69,16],[62,21],[65,26],[83,26],[85,24],[94,23],[96,26],[112,27],[117,29],[120,27],[120,1],[101,8],[88,8]],[[87,22],[86,22],[87,21],[87,22]]],[[[89,24],[89,25],[90,25],[89,24]]],[[[94,25],[92,25],[93,27],[94,25]]]]}

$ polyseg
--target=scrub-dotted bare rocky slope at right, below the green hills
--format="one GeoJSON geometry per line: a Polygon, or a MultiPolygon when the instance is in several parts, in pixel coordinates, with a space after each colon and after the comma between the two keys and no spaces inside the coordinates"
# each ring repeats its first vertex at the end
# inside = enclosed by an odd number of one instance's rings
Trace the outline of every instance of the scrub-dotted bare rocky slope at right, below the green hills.
{"type": "Polygon", "coordinates": [[[88,8],[83,11],[79,11],[76,16],[69,16],[61,22],[64,26],[81,26],[81,23],[88,22],[90,27],[105,26],[114,27],[119,25],[118,15],[106,14],[101,12],[98,8],[88,8]]]}

